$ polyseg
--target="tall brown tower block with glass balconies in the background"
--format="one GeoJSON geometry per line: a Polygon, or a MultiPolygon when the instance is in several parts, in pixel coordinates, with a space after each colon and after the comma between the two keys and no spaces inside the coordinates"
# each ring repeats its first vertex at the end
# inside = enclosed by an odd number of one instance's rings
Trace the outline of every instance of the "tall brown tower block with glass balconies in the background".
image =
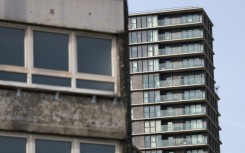
{"type": "Polygon", "coordinates": [[[212,22],[202,8],[129,15],[133,144],[220,153],[212,22]]]}

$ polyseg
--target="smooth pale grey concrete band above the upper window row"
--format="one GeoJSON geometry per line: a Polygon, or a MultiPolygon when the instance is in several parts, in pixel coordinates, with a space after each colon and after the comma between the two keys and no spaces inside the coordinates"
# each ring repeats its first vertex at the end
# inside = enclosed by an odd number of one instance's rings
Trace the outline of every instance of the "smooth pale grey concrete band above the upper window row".
{"type": "Polygon", "coordinates": [[[118,33],[124,0],[0,0],[0,20],[118,33]]]}

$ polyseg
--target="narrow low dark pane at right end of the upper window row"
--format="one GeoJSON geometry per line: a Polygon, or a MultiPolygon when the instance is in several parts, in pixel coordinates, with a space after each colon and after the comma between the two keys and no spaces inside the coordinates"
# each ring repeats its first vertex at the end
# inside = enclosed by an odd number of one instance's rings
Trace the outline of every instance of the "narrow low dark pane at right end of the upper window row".
{"type": "Polygon", "coordinates": [[[114,83],[77,80],[77,88],[114,91],[114,83]]]}

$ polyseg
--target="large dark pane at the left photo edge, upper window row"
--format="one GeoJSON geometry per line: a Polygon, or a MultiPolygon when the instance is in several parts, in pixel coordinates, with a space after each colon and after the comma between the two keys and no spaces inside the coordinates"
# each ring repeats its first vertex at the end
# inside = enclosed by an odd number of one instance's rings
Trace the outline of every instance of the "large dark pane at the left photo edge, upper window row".
{"type": "Polygon", "coordinates": [[[24,66],[25,31],[0,27],[0,64],[24,66]]]}

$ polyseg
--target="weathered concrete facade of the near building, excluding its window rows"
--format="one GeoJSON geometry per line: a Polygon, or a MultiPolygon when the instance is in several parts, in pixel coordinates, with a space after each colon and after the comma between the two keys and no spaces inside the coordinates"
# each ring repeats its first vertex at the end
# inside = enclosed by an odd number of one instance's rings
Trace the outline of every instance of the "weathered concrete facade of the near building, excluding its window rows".
{"type": "MultiPolygon", "coordinates": [[[[117,75],[113,77],[119,90],[114,95],[55,92],[14,83],[8,86],[0,80],[0,136],[18,133],[108,140],[117,144],[117,153],[131,152],[127,2],[0,0],[0,27],[2,23],[114,37],[117,75]]],[[[5,71],[1,62],[0,69],[5,71]]]]}

